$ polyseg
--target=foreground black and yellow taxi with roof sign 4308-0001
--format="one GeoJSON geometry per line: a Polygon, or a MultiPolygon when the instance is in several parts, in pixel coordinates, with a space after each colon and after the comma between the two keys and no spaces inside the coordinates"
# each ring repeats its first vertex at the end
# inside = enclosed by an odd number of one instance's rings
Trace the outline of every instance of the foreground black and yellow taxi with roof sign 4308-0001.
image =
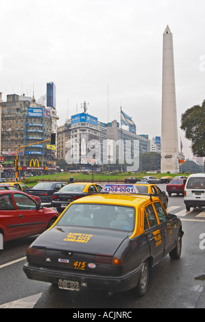
{"type": "Polygon", "coordinates": [[[27,249],[29,279],[64,290],[109,293],[134,288],[145,295],[149,269],[168,253],[180,258],[182,223],[160,199],[132,184],[106,184],[73,201],[27,249]]]}

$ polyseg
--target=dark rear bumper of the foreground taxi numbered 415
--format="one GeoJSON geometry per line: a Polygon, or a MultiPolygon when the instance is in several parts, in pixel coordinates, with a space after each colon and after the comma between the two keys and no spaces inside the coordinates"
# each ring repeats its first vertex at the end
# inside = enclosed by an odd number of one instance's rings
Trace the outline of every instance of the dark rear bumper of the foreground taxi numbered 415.
{"type": "Polygon", "coordinates": [[[80,283],[80,287],[95,288],[97,290],[106,290],[108,292],[121,292],[130,290],[137,285],[138,277],[143,268],[140,264],[136,269],[124,275],[94,275],[84,273],[73,273],[70,271],[61,271],[43,267],[35,267],[29,263],[23,266],[23,271],[30,280],[38,280],[58,284],[58,280],[73,280],[80,283]]]}

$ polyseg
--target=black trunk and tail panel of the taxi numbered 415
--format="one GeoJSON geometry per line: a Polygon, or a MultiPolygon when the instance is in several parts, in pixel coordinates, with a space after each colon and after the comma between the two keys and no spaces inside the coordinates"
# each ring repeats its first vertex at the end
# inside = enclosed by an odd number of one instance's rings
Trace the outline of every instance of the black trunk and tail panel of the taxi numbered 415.
{"type": "Polygon", "coordinates": [[[119,275],[122,262],[114,253],[127,238],[128,232],[53,227],[29,247],[27,261],[49,269],[119,275]]]}

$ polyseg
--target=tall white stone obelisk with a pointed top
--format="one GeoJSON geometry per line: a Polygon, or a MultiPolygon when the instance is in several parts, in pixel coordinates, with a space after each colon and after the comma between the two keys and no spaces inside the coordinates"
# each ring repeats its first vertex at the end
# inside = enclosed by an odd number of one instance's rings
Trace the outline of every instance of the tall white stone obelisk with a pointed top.
{"type": "Polygon", "coordinates": [[[163,34],[161,173],[179,171],[173,36],[167,25],[163,34]]]}

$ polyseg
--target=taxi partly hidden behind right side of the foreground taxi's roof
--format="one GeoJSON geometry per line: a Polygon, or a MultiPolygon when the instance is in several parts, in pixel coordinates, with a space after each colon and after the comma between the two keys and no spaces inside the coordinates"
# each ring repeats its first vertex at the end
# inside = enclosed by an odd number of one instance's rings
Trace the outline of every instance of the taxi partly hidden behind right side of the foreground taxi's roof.
{"type": "Polygon", "coordinates": [[[139,193],[151,193],[154,197],[158,197],[165,206],[165,209],[167,209],[169,199],[166,191],[162,191],[156,184],[148,184],[148,182],[141,181],[136,184],[139,193]]]}

